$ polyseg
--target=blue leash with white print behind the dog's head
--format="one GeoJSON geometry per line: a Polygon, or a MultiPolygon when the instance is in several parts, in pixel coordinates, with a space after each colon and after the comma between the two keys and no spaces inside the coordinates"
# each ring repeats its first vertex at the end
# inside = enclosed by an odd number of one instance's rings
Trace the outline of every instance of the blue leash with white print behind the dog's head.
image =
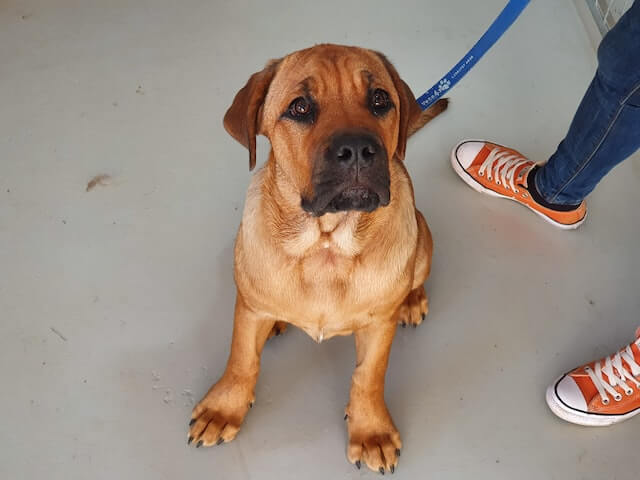
{"type": "Polygon", "coordinates": [[[462,57],[456,65],[449,70],[444,77],[440,79],[433,87],[427,90],[417,102],[422,110],[429,108],[436,100],[438,100],[445,92],[453,88],[462,77],[493,47],[494,43],[506,32],[509,27],[520,16],[525,7],[529,4],[529,0],[509,0],[504,10],[498,15],[489,29],[480,37],[480,40],[462,57]]]}

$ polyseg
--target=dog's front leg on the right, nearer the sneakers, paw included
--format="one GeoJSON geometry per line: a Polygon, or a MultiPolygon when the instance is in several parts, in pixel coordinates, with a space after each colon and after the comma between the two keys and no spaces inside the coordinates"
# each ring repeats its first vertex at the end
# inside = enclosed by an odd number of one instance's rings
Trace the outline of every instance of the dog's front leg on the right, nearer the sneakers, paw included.
{"type": "Polygon", "coordinates": [[[347,457],[376,472],[393,472],[402,441],[384,403],[384,376],[396,331],[392,320],[378,321],[355,332],[356,369],[346,408],[349,429],[347,457]]]}

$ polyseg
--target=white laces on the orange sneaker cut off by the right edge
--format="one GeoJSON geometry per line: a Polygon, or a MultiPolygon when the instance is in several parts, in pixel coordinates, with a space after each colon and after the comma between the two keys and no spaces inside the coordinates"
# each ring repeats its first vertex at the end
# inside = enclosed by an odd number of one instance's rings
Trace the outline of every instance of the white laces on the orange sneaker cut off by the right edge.
{"type": "MultiPolygon", "coordinates": [[[[640,347],[640,338],[634,343],[640,347]]],[[[640,381],[638,381],[638,377],[640,377],[640,365],[635,361],[631,345],[627,345],[625,349],[611,357],[607,357],[604,361],[604,367],[601,365],[601,362],[598,361],[596,362],[595,371],[589,366],[585,367],[584,370],[598,389],[604,405],[608,405],[610,401],[607,393],[609,393],[616,402],[622,400],[622,395],[615,389],[616,386],[622,387],[626,395],[633,394],[633,388],[629,386],[627,381],[633,382],[636,388],[640,388],[640,381]],[[627,362],[631,371],[622,364],[622,360],[627,362]],[[603,373],[607,376],[608,381],[602,377],[603,373]]]]}

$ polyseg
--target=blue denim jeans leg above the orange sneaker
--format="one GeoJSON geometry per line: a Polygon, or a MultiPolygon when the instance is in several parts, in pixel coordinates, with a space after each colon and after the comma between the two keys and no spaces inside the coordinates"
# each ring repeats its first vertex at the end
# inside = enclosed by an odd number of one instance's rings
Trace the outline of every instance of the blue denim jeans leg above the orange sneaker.
{"type": "Polygon", "coordinates": [[[605,35],[598,70],[569,132],[535,175],[550,204],[578,205],[640,148],[640,0],[605,35]]]}

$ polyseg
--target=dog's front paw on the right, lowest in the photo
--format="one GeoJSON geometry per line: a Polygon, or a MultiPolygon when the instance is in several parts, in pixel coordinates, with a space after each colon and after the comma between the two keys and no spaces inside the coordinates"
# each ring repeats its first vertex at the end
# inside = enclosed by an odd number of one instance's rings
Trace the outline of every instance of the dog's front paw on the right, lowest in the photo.
{"type": "Polygon", "coordinates": [[[349,423],[349,446],[347,458],[358,469],[366,464],[374,472],[394,473],[398,466],[402,440],[393,426],[391,418],[383,415],[359,422],[357,418],[347,416],[349,423]],[[384,418],[386,417],[386,418],[384,418]]]}

